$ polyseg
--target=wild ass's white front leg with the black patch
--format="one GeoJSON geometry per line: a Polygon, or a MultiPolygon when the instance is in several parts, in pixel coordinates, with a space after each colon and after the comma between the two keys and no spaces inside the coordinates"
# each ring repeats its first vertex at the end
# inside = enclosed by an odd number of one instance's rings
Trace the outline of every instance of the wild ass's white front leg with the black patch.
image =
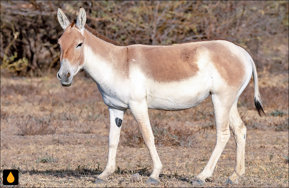
{"type": "Polygon", "coordinates": [[[116,150],[121,134],[121,124],[123,115],[126,110],[113,109],[108,107],[110,115],[110,129],[108,136],[108,161],[104,171],[97,176],[95,183],[108,182],[108,176],[112,175],[115,170],[116,150]]]}

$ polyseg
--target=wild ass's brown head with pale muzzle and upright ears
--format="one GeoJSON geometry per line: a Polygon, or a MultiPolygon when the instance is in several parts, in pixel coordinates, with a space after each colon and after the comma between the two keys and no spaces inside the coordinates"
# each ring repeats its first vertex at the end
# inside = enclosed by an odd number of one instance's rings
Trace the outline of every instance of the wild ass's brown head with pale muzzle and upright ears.
{"type": "Polygon", "coordinates": [[[64,29],[64,33],[58,39],[60,47],[60,69],[57,78],[61,81],[62,86],[70,86],[73,76],[82,68],[84,63],[84,26],[86,23],[85,10],[80,7],[76,23],[70,23],[58,8],[57,18],[64,29]]]}

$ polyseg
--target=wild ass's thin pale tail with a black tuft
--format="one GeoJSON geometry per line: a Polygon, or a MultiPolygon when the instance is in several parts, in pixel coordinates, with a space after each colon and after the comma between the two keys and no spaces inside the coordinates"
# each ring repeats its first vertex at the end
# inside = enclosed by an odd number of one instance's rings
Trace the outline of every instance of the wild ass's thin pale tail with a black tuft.
{"type": "Polygon", "coordinates": [[[260,117],[262,117],[262,114],[265,114],[263,106],[262,106],[262,100],[260,97],[260,92],[259,92],[259,85],[258,85],[258,75],[257,75],[257,70],[256,70],[256,66],[255,63],[253,61],[253,59],[251,58],[251,63],[253,66],[253,79],[254,79],[254,101],[255,101],[255,107],[256,110],[259,114],[260,117]]]}

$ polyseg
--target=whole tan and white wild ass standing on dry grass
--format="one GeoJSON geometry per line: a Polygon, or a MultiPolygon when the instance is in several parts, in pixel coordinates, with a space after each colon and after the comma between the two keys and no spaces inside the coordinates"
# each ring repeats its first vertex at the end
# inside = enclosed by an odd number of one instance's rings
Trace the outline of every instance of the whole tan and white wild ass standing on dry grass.
{"type": "Polygon", "coordinates": [[[226,40],[186,42],[178,45],[119,45],[86,25],[86,13],[79,9],[70,23],[58,8],[64,33],[58,40],[61,67],[57,78],[70,86],[73,76],[85,70],[96,82],[108,106],[110,130],[108,160],[97,183],[114,173],[116,150],[123,115],[130,109],[136,119],[151,160],[153,171],[147,183],[159,183],[162,163],[158,156],[148,108],[184,110],[201,103],[211,94],[216,123],[216,146],[203,171],[192,182],[203,185],[212,176],[216,163],[230,138],[236,140],[236,166],[227,183],[238,183],[245,172],[246,127],[237,110],[238,98],[254,78],[254,100],[264,113],[255,64],[244,48],[226,40]]]}

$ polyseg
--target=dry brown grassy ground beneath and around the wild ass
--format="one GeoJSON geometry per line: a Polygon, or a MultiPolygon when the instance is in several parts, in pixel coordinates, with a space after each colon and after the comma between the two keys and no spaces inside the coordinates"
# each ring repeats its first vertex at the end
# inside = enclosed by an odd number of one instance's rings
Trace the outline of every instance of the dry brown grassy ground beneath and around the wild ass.
{"type": "MultiPolygon", "coordinates": [[[[106,165],[108,108],[95,83],[83,72],[72,87],[51,78],[1,77],[1,187],[3,169],[19,169],[19,187],[192,187],[215,145],[210,97],[179,112],[149,110],[163,163],[161,184],[146,185],[152,164],[136,122],[126,112],[117,170],[107,184],[94,185],[106,165]],[[130,182],[132,173],[142,181],[130,182]]],[[[288,187],[288,73],[260,72],[266,117],[253,104],[253,82],[239,99],[247,126],[246,173],[238,185],[225,185],[234,171],[231,136],[206,187],[288,187]]],[[[232,135],[232,134],[231,134],[232,135]]],[[[9,187],[9,186],[8,186],[9,187]]]]}

